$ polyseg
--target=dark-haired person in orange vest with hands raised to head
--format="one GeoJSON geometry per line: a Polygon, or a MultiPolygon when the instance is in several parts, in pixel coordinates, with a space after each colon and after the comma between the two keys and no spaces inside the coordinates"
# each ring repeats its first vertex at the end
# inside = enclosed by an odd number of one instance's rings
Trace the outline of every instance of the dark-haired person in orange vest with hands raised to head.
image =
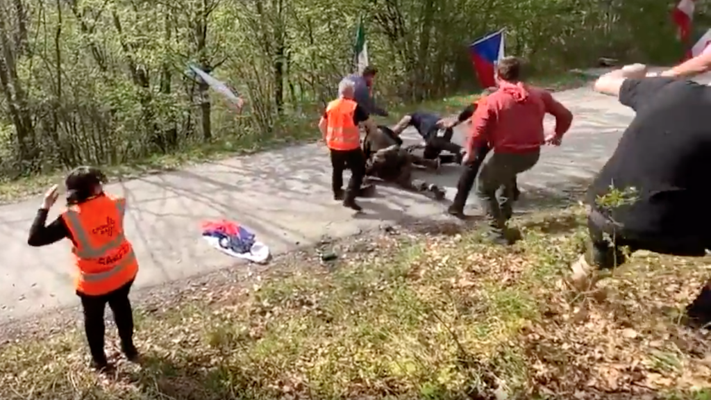
{"type": "Polygon", "coordinates": [[[110,368],[104,352],[104,312],[108,303],[114,313],[122,351],[136,362],[133,342],[133,312],[129,291],[138,273],[131,243],[124,236],[126,199],[105,194],[105,175],[96,168],[77,167],[65,179],[67,206],[46,225],[50,208],[59,196],[52,186],[44,197],[27,240],[33,247],[47,246],[68,238],[77,269],[76,293],[84,310],[84,327],[92,366],[110,368]]]}

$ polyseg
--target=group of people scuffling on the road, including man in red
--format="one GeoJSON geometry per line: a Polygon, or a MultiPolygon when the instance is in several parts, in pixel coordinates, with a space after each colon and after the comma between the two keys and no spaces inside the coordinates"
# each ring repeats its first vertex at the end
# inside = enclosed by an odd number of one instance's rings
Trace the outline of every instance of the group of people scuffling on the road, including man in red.
{"type": "Polygon", "coordinates": [[[437,169],[444,163],[461,164],[463,171],[457,194],[447,211],[466,218],[464,206],[476,182],[476,196],[486,211],[491,240],[510,243],[513,236],[508,233],[506,224],[513,216],[513,202],[520,193],[517,176],[538,162],[542,145],[560,145],[572,123],[570,110],[547,90],[523,83],[520,60],[508,57],[497,65],[497,87],[486,89],[481,98],[465,107],[458,117],[449,119],[432,112],[412,112],[390,129],[370,120],[371,113],[387,114],[375,106],[371,96],[376,73],[374,68],[366,68],[362,75],[343,78],[338,86],[338,99],[328,104],[319,122],[324,142],[331,150],[334,198],[343,200],[344,206],[361,211],[355,198],[363,176],[370,175],[394,181],[405,189],[430,191],[435,199],[441,200],[444,191],[437,185],[413,180],[412,168],[437,169]],[[555,132],[551,135],[545,135],[543,128],[546,114],[556,120],[555,132]],[[467,121],[471,122],[471,135],[466,146],[461,147],[451,140],[454,127],[467,121]],[[365,130],[362,144],[358,127],[361,123],[365,130]],[[410,126],[422,136],[422,146],[402,146],[400,133],[410,126]],[[418,147],[424,148],[421,156],[415,154],[418,147]],[[492,150],[491,157],[487,158],[492,150]],[[350,164],[341,161],[346,158],[351,160],[350,164]],[[354,166],[356,162],[358,165],[354,166]],[[345,196],[338,196],[346,167],[351,167],[351,181],[345,196]]]}

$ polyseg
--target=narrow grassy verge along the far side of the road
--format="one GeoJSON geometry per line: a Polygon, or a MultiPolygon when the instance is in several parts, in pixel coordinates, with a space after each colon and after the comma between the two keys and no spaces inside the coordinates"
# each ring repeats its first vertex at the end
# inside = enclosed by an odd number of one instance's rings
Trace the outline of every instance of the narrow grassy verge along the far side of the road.
{"type": "MultiPolygon", "coordinates": [[[[584,85],[589,81],[589,77],[579,73],[562,73],[558,75],[535,78],[532,83],[550,90],[565,90],[584,85]]],[[[439,100],[428,100],[417,105],[390,104],[391,117],[387,123],[395,123],[407,112],[414,110],[427,110],[438,112],[443,115],[460,112],[466,105],[471,104],[478,95],[471,93],[452,96],[439,100]]],[[[203,143],[188,149],[171,154],[156,155],[144,160],[137,160],[130,165],[102,166],[107,176],[112,181],[132,179],[146,174],[157,174],[171,171],[186,164],[198,162],[208,162],[215,159],[224,159],[245,154],[253,154],[289,144],[299,144],[311,142],[320,137],[316,129],[316,118],[294,118],[284,122],[282,126],[269,137],[257,137],[256,135],[226,136],[217,137],[213,142],[203,143]]],[[[380,118],[380,117],[378,117],[380,118]]],[[[0,177],[0,202],[16,201],[27,196],[38,194],[48,189],[48,186],[63,182],[64,171],[53,174],[33,175],[21,177],[20,179],[9,179],[0,177]]]]}

